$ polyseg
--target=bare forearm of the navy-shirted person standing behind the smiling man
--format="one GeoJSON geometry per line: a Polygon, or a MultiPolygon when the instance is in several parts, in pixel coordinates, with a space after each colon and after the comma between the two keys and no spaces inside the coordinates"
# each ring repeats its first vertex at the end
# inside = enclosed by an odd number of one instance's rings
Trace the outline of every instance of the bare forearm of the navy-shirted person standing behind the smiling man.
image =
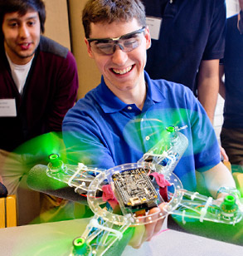
{"type": "Polygon", "coordinates": [[[202,61],[198,72],[198,100],[211,123],[213,121],[219,91],[219,60],[202,61]]]}

